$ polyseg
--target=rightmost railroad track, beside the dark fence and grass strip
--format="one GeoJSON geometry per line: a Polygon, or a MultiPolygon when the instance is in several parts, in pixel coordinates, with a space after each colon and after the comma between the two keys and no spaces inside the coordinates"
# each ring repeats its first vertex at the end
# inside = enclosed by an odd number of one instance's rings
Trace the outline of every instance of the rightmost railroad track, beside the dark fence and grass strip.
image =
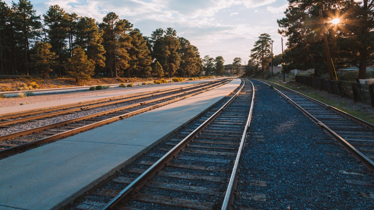
{"type": "Polygon", "coordinates": [[[355,156],[371,173],[374,172],[373,124],[276,83],[258,81],[267,85],[278,86],[279,88],[276,91],[324,129],[329,136],[355,156]]]}

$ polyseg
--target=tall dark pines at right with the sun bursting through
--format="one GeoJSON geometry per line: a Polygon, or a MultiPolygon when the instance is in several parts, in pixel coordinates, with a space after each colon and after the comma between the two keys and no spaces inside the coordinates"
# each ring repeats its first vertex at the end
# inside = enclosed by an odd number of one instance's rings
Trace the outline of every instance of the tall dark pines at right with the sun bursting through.
{"type": "Polygon", "coordinates": [[[365,79],[366,67],[373,64],[374,0],[288,1],[285,18],[278,20],[279,34],[288,37],[283,69],[315,69],[315,76],[328,71],[324,27],[334,67],[357,66],[359,79],[365,79]]]}

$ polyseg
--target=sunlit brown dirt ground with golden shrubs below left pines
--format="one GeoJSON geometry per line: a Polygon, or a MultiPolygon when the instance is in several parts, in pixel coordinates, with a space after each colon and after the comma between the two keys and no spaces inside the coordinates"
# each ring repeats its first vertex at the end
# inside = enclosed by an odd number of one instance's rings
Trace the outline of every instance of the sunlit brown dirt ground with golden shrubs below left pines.
{"type": "MultiPolygon", "coordinates": [[[[168,79],[168,78],[165,78],[168,79]]],[[[75,82],[72,78],[48,78],[43,79],[35,76],[0,75],[0,91],[19,91],[28,89],[67,88],[76,86],[106,85],[128,82],[147,82],[158,80],[157,78],[103,78],[94,77],[91,80],[75,82]]]]}

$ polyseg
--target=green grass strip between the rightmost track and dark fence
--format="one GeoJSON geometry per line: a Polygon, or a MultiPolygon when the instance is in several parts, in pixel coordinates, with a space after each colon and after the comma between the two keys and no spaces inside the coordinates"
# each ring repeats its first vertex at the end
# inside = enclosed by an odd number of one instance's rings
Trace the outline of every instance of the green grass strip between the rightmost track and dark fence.
{"type": "MultiPolygon", "coordinates": [[[[277,83],[277,82],[275,82],[275,83],[277,83]]],[[[371,112],[366,112],[366,111],[361,110],[361,109],[352,108],[349,103],[346,103],[346,102],[343,102],[343,101],[334,101],[330,98],[326,98],[324,95],[319,94],[318,92],[312,92],[312,93],[305,92],[303,90],[314,91],[314,89],[308,88],[307,86],[304,86],[304,85],[301,86],[300,88],[295,88],[295,87],[292,87],[292,86],[289,86],[289,85],[286,85],[286,84],[283,84],[283,83],[277,83],[277,84],[285,86],[285,87],[287,87],[289,89],[292,89],[294,91],[300,92],[304,95],[307,95],[311,98],[314,98],[315,100],[321,101],[322,103],[328,104],[330,106],[333,106],[337,109],[342,110],[343,112],[346,112],[350,115],[353,115],[356,118],[360,118],[364,121],[367,121],[367,122],[370,122],[371,124],[374,124],[374,115],[371,112]]]]}

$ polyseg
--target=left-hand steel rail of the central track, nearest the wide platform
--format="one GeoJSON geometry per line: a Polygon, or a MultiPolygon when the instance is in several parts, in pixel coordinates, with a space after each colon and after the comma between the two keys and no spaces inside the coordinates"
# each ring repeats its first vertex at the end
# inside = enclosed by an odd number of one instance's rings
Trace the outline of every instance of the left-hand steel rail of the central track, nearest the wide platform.
{"type": "MultiPolygon", "coordinates": [[[[103,206],[100,210],[114,210],[118,209],[121,205],[126,203],[126,201],[130,200],[132,197],[136,197],[138,191],[147,184],[153,176],[155,176],[168,162],[177,156],[177,154],[184,148],[194,137],[196,137],[206,126],[208,126],[217,116],[224,110],[226,107],[234,100],[234,98],[238,95],[238,93],[242,90],[244,86],[240,87],[239,91],[230,98],[220,109],[217,110],[212,116],[210,116],[206,121],[204,121],[199,127],[197,127],[194,131],[192,131],[186,138],[180,141],[176,146],[174,146],[168,153],[166,153],[162,158],[160,158],[157,162],[155,162],[151,167],[149,167],[144,173],[137,177],[132,183],[126,186],[121,192],[119,192],[116,197],[110,200],[105,206],[103,206]]],[[[236,88],[237,89],[237,88],[236,88]]],[[[234,90],[235,91],[235,90],[234,90]]],[[[234,92],[233,91],[233,92],[234,92]]]]}

